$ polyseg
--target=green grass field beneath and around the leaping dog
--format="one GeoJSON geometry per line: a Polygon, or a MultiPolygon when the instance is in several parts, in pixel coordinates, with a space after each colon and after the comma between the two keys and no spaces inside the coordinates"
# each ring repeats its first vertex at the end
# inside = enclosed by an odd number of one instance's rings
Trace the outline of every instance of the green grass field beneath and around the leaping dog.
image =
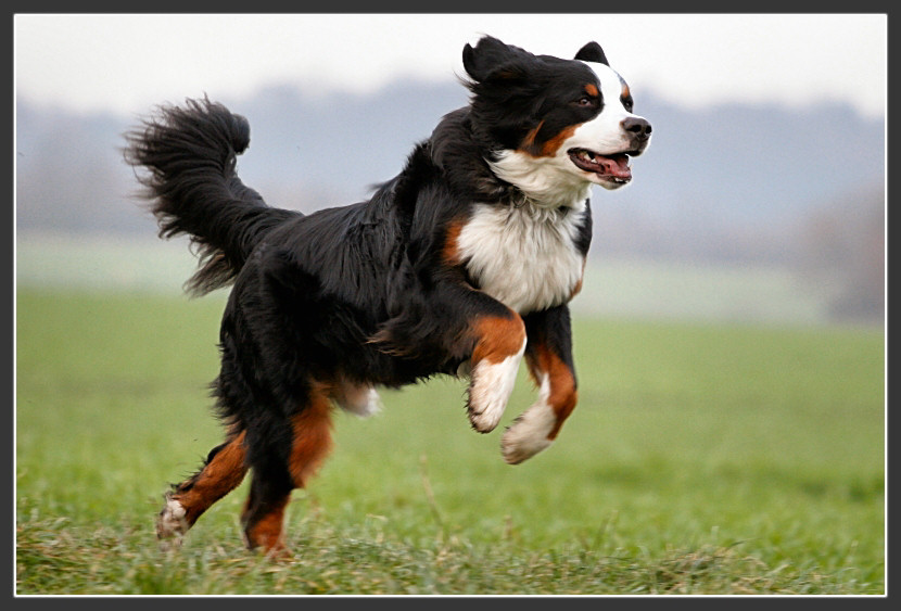
{"type": "Polygon", "coordinates": [[[335,451],[288,514],[294,558],[245,551],[246,482],[178,550],[153,522],[221,431],[223,295],[21,290],[20,595],[885,593],[879,330],[575,323],[580,405],[503,462],[462,381],[335,415],[335,451]]]}

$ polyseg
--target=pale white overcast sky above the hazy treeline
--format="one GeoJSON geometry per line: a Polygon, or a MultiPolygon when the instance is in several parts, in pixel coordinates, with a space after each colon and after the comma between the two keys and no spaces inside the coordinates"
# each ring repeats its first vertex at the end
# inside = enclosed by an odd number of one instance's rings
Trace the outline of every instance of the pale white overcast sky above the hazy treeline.
{"type": "Polygon", "coordinates": [[[143,114],[278,82],[314,94],[453,81],[464,44],[491,34],[563,58],[596,40],[636,98],[886,112],[885,14],[18,14],[14,26],[17,94],[77,111],[143,114]]]}

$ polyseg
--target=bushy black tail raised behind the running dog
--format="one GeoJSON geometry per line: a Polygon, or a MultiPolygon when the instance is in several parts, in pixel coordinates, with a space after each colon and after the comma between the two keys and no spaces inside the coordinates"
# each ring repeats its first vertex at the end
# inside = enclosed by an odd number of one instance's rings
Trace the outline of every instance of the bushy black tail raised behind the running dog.
{"type": "Polygon", "coordinates": [[[200,258],[186,290],[202,295],[229,284],[254,246],[297,212],[272,208],[238,178],[237,156],[250,144],[248,120],[208,99],[162,106],[126,133],[125,158],[149,174],[147,187],[160,237],[188,234],[200,258]]]}

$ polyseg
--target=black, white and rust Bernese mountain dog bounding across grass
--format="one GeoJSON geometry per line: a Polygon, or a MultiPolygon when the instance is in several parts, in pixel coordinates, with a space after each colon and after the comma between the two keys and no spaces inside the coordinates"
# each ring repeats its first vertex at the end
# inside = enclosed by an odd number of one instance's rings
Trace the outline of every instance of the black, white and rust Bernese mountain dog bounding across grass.
{"type": "Polygon", "coordinates": [[[289,553],[283,513],[329,453],[334,406],[367,416],[378,387],[469,378],[477,431],[499,422],[524,357],[537,399],[502,437],[519,463],[576,404],[568,303],[592,239],[589,194],[632,179],[651,126],[597,42],[573,60],[491,36],[466,44],[469,104],[445,115],[371,199],[309,215],[268,206],[236,174],[248,120],[204,97],[126,135],[160,237],[187,234],[194,295],[232,285],[212,383],[226,431],[165,495],[180,542],[250,470],[245,545],[289,553]]]}

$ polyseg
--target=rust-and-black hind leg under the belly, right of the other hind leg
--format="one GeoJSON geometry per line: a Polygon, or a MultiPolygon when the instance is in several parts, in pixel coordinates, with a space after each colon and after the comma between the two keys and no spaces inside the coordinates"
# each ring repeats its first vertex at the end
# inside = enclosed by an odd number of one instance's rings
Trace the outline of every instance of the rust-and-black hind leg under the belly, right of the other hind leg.
{"type": "Polygon", "coordinates": [[[291,491],[305,487],[331,449],[331,404],[323,389],[310,392],[307,404],[291,417],[290,429],[290,448],[270,447],[255,457],[241,514],[248,547],[263,548],[268,556],[290,553],[282,531],[291,491]]]}

